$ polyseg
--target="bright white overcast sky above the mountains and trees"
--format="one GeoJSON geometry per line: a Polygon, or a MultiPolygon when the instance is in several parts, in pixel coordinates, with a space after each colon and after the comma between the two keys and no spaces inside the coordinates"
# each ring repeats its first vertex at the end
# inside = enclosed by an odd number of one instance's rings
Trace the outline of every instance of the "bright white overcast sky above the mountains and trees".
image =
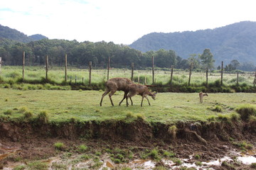
{"type": "Polygon", "coordinates": [[[149,33],[256,21],[255,0],[1,0],[0,24],[49,39],[129,45],[149,33]]]}

